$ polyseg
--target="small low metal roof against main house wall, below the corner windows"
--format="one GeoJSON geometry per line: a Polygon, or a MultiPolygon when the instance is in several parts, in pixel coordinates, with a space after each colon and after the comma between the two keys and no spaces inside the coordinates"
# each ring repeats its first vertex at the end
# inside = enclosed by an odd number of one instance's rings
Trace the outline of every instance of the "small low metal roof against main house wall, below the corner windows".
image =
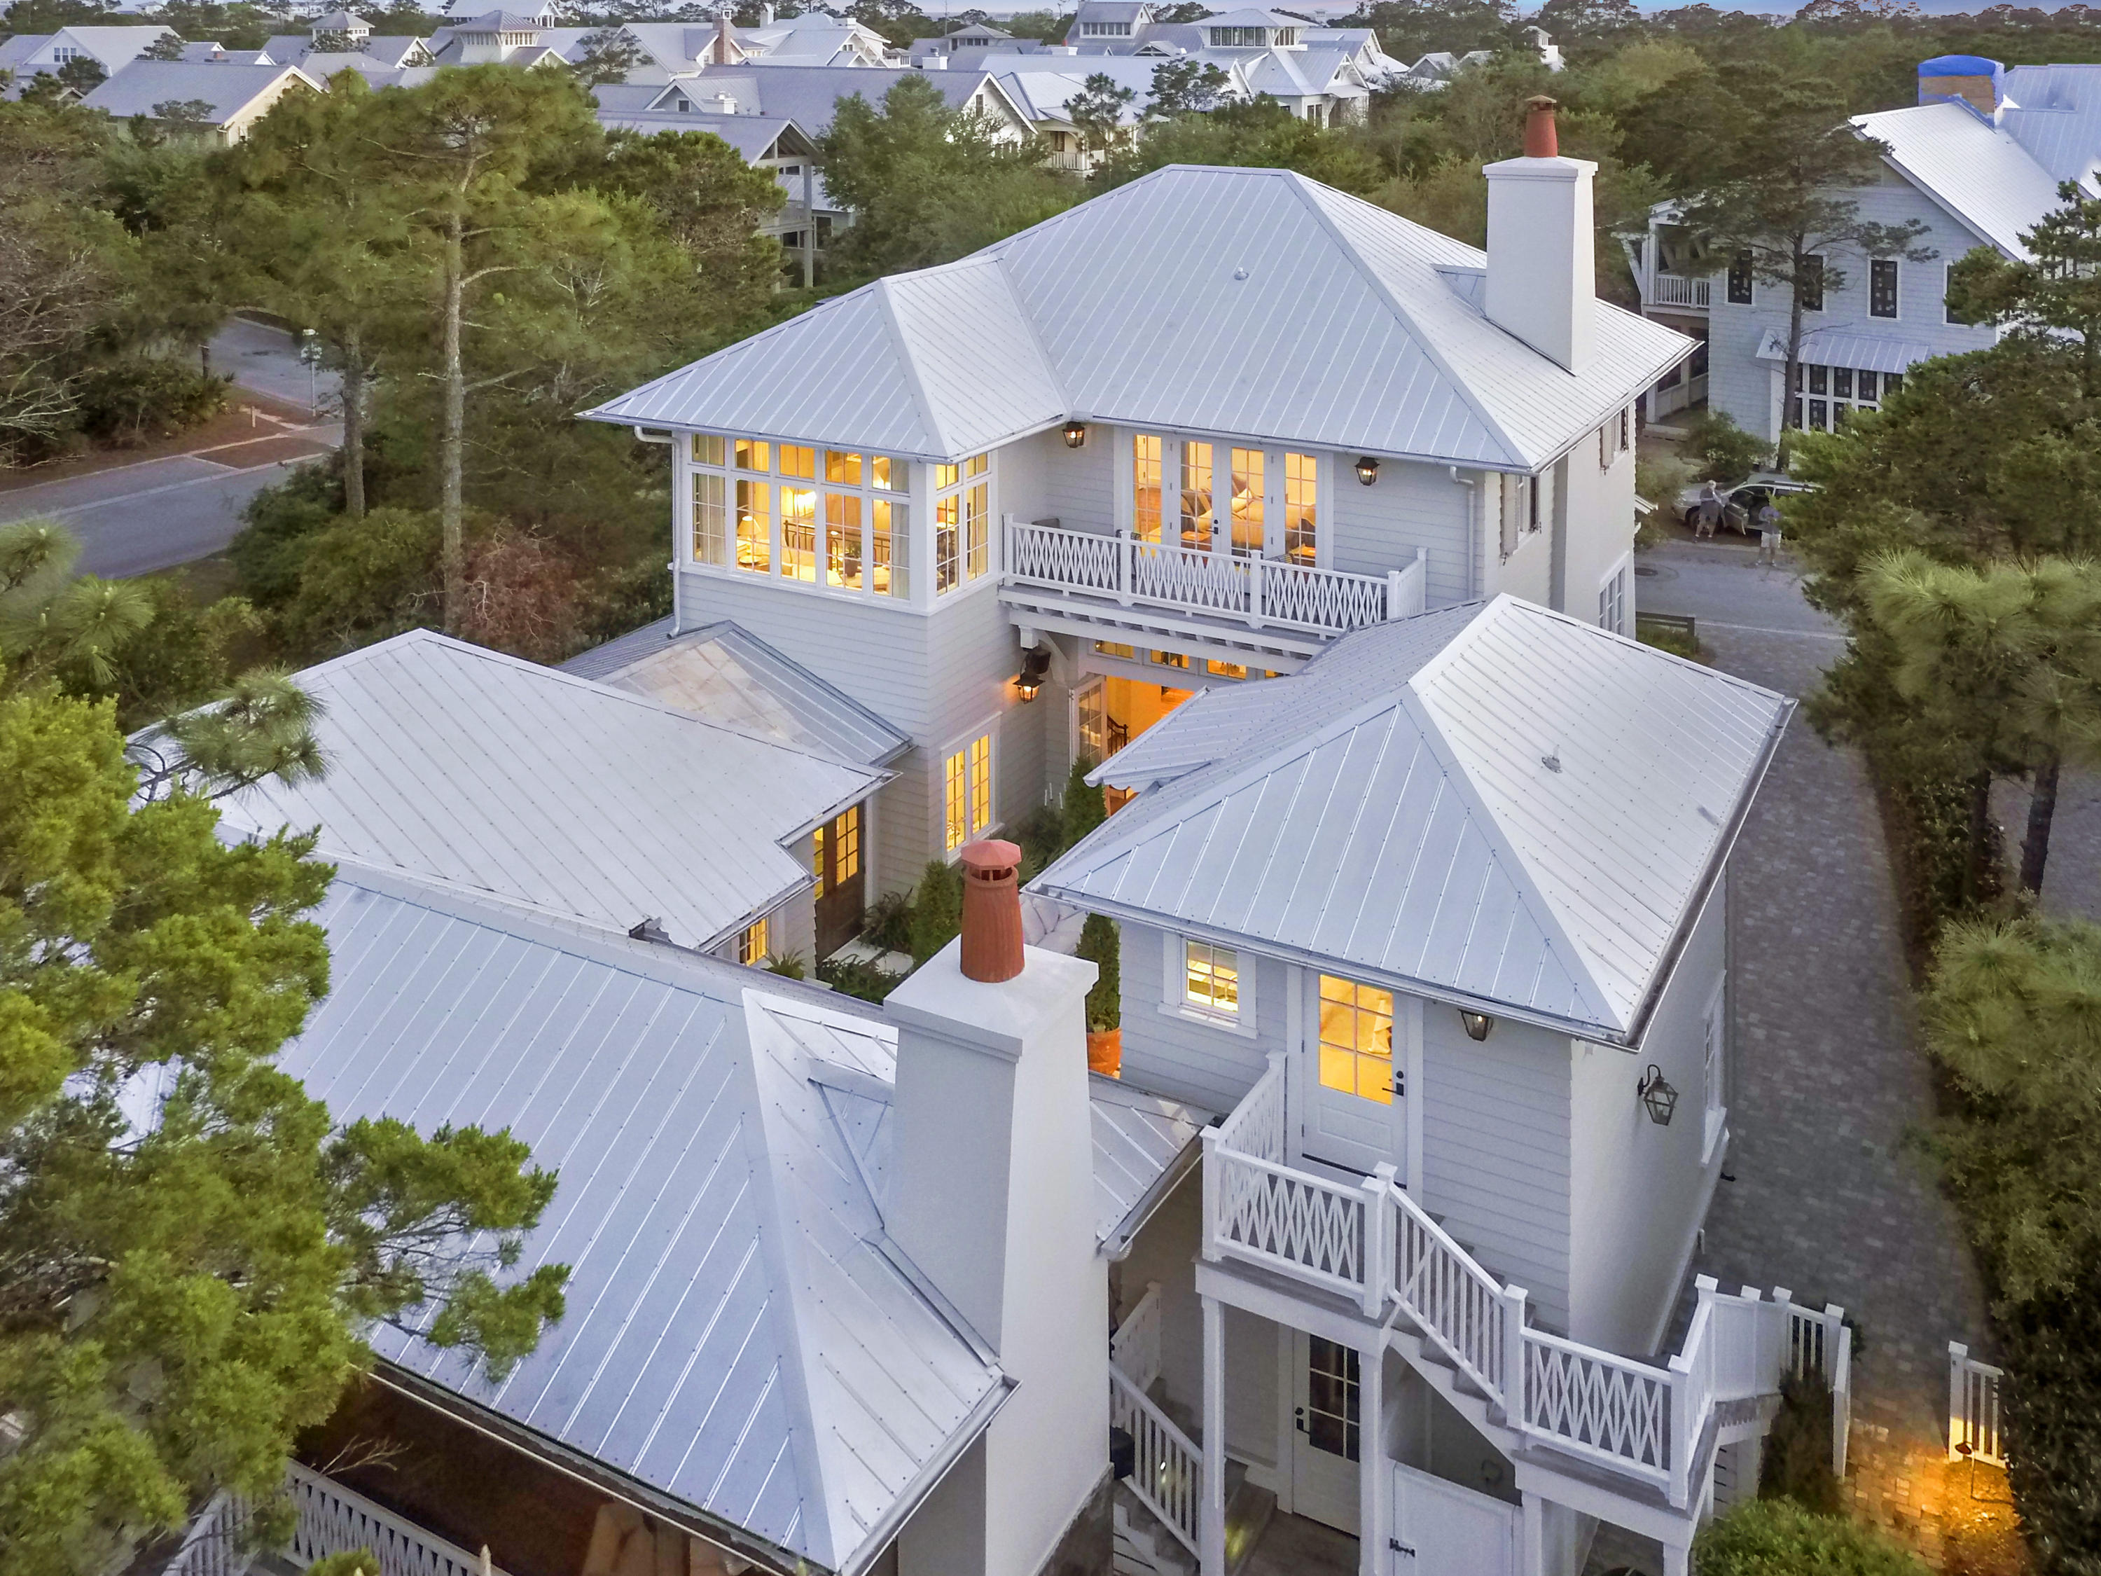
{"type": "Polygon", "coordinates": [[[561,670],[855,767],[882,767],[912,748],[910,733],[729,622],[674,635],[660,618],[561,670]]]}

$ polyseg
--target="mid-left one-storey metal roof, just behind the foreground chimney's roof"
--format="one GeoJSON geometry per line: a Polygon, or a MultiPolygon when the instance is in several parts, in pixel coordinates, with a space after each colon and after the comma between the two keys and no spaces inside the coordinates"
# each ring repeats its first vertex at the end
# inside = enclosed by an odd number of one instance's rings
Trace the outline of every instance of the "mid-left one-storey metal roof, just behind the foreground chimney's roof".
{"type": "Polygon", "coordinates": [[[298,675],[328,771],[221,801],[248,836],[628,931],[714,946],[811,885],[784,843],[889,773],[410,630],[298,675]]]}

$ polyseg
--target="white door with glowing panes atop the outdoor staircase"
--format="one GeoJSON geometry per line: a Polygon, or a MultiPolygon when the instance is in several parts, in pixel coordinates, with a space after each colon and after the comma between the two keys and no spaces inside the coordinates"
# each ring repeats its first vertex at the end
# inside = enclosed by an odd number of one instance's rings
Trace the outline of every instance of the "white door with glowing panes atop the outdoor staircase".
{"type": "Polygon", "coordinates": [[[1391,990],[1307,971],[1298,1044],[1298,1152],[1370,1175],[1391,1160],[1408,1181],[1410,1040],[1422,1032],[1420,1004],[1391,990]]]}

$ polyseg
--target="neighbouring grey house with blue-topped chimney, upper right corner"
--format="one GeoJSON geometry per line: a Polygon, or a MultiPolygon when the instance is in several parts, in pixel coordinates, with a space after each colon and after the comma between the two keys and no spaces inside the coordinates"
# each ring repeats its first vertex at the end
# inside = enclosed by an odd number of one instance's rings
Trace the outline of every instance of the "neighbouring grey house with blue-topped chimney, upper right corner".
{"type": "MultiPolygon", "coordinates": [[[[1918,105],[1855,116],[1889,145],[1872,187],[1849,191],[1866,219],[1925,225],[1935,256],[1836,256],[1845,284],[1809,300],[1803,317],[1798,420],[1813,431],[1876,410],[1904,374],[1935,355],[1994,345],[2002,330],[1948,313],[1948,269],[1977,246],[2021,258],[2021,233],[2059,206],[2057,185],[2101,195],[2101,65],[2013,65],[1943,55],[1918,67],[1918,105]]],[[[1643,311],[1706,340],[1704,387],[1666,385],[1651,412],[1702,393],[1761,437],[1780,435],[1788,355],[1788,290],[1698,252],[1662,204],[1628,248],[1643,311]]]]}

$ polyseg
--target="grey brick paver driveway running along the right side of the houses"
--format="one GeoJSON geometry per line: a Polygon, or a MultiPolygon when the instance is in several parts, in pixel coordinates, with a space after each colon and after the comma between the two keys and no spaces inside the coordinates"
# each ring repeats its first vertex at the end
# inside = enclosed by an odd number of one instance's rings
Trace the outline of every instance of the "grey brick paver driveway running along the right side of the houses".
{"type": "MultiPolygon", "coordinates": [[[[1643,580],[1641,605],[1702,614],[1702,643],[1727,672],[1811,689],[1840,645],[1803,628],[1798,597],[1777,601],[1786,576],[1700,553],[1645,555],[1677,574],[1643,580]]],[[[1696,1267],[1857,1320],[1855,1505],[1937,1557],[1948,1343],[1983,1351],[1983,1292],[1952,1208],[1906,1147],[1933,1093],[1868,775],[1801,717],[1738,845],[1729,899],[1735,1181],[1719,1189],[1696,1267]]]]}

